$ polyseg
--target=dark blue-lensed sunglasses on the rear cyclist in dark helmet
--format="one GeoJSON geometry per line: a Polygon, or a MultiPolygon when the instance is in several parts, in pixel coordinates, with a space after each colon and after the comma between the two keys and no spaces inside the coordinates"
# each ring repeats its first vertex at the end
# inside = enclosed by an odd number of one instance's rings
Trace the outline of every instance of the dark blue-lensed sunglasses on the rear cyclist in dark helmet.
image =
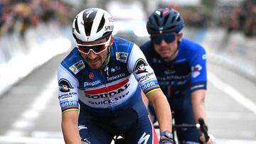
{"type": "Polygon", "coordinates": [[[176,39],[177,33],[164,33],[158,35],[151,35],[151,40],[154,44],[160,45],[161,41],[164,40],[166,43],[172,43],[176,39]]]}

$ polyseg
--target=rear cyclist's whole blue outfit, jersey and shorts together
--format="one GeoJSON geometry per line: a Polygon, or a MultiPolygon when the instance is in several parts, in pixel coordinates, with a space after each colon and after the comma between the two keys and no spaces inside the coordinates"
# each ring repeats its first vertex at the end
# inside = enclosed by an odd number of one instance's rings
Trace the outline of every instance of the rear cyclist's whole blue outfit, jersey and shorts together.
{"type": "MultiPolygon", "coordinates": [[[[141,49],[156,74],[159,86],[168,97],[171,110],[174,111],[175,123],[196,123],[191,93],[198,89],[206,89],[206,51],[201,45],[186,38],[179,42],[178,54],[171,62],[161,59],[151,41],[142,45],[141,49]]],[[[154,118],[156,117],[151,104],[149,112],[154,118]]],[[[182,143],[199,143],[197,130],[177,130],[177,135],[182,143]]]]}

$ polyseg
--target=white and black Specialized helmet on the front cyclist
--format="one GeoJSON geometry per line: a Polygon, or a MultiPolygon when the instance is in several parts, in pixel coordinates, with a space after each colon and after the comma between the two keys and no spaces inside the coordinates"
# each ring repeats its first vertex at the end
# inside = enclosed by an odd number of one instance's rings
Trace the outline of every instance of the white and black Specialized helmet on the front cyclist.
{"type": "Polygon", "coordinates": [[[91,8],[80,11],[73,21],[73,37],[77,42],[91,42],[111,35],[113,18],[103,9],[91,8]]]}

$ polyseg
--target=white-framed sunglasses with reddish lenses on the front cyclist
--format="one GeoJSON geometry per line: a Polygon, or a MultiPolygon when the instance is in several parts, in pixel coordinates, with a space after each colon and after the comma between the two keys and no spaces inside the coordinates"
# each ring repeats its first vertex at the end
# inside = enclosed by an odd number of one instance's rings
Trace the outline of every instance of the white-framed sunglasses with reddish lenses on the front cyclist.
{"type": "Polygon", "coordinates": [[[99,43],[99,44],[95,44],[95,45],[81,45],[81,44],[77,44],[78,45],[78,50],[82,53],[84,53],[85,55],[88,55],[90,50],[92,50],[92,52],[94,52],[96,55],[99,54],[100,52],[103,52],[104,50],[106,50],[108,48],[108,46],[110,45],[110,38],[108,38],[108,40],[104,43],[99,43]]]}

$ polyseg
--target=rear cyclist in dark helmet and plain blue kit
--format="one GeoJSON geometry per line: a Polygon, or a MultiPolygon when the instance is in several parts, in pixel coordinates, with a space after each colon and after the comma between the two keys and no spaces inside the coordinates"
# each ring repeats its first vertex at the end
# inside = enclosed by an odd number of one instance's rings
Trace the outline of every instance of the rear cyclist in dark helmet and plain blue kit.
{"type": "MultiPolygon", "coordinates": [[[[181,14],[174,9],[156,9],[146,23],[150,40],[140,48],[156,74],[159,86],[174,111],[176,124],[206,121],[206,51],[201,45],[183,38],[181,14]]],[[[149,104],[154,119],[154,109],[149,104]]],[[[156,119],[153,120],[154,122],[156,119]]],[[[199,143],[198,130],[178,131],[181,143],[199,143]]],[[[213,137],[212,137],[213,139],[213,137]]],[[[213,143],[213,140],[208,143],[213,143]]]]}

